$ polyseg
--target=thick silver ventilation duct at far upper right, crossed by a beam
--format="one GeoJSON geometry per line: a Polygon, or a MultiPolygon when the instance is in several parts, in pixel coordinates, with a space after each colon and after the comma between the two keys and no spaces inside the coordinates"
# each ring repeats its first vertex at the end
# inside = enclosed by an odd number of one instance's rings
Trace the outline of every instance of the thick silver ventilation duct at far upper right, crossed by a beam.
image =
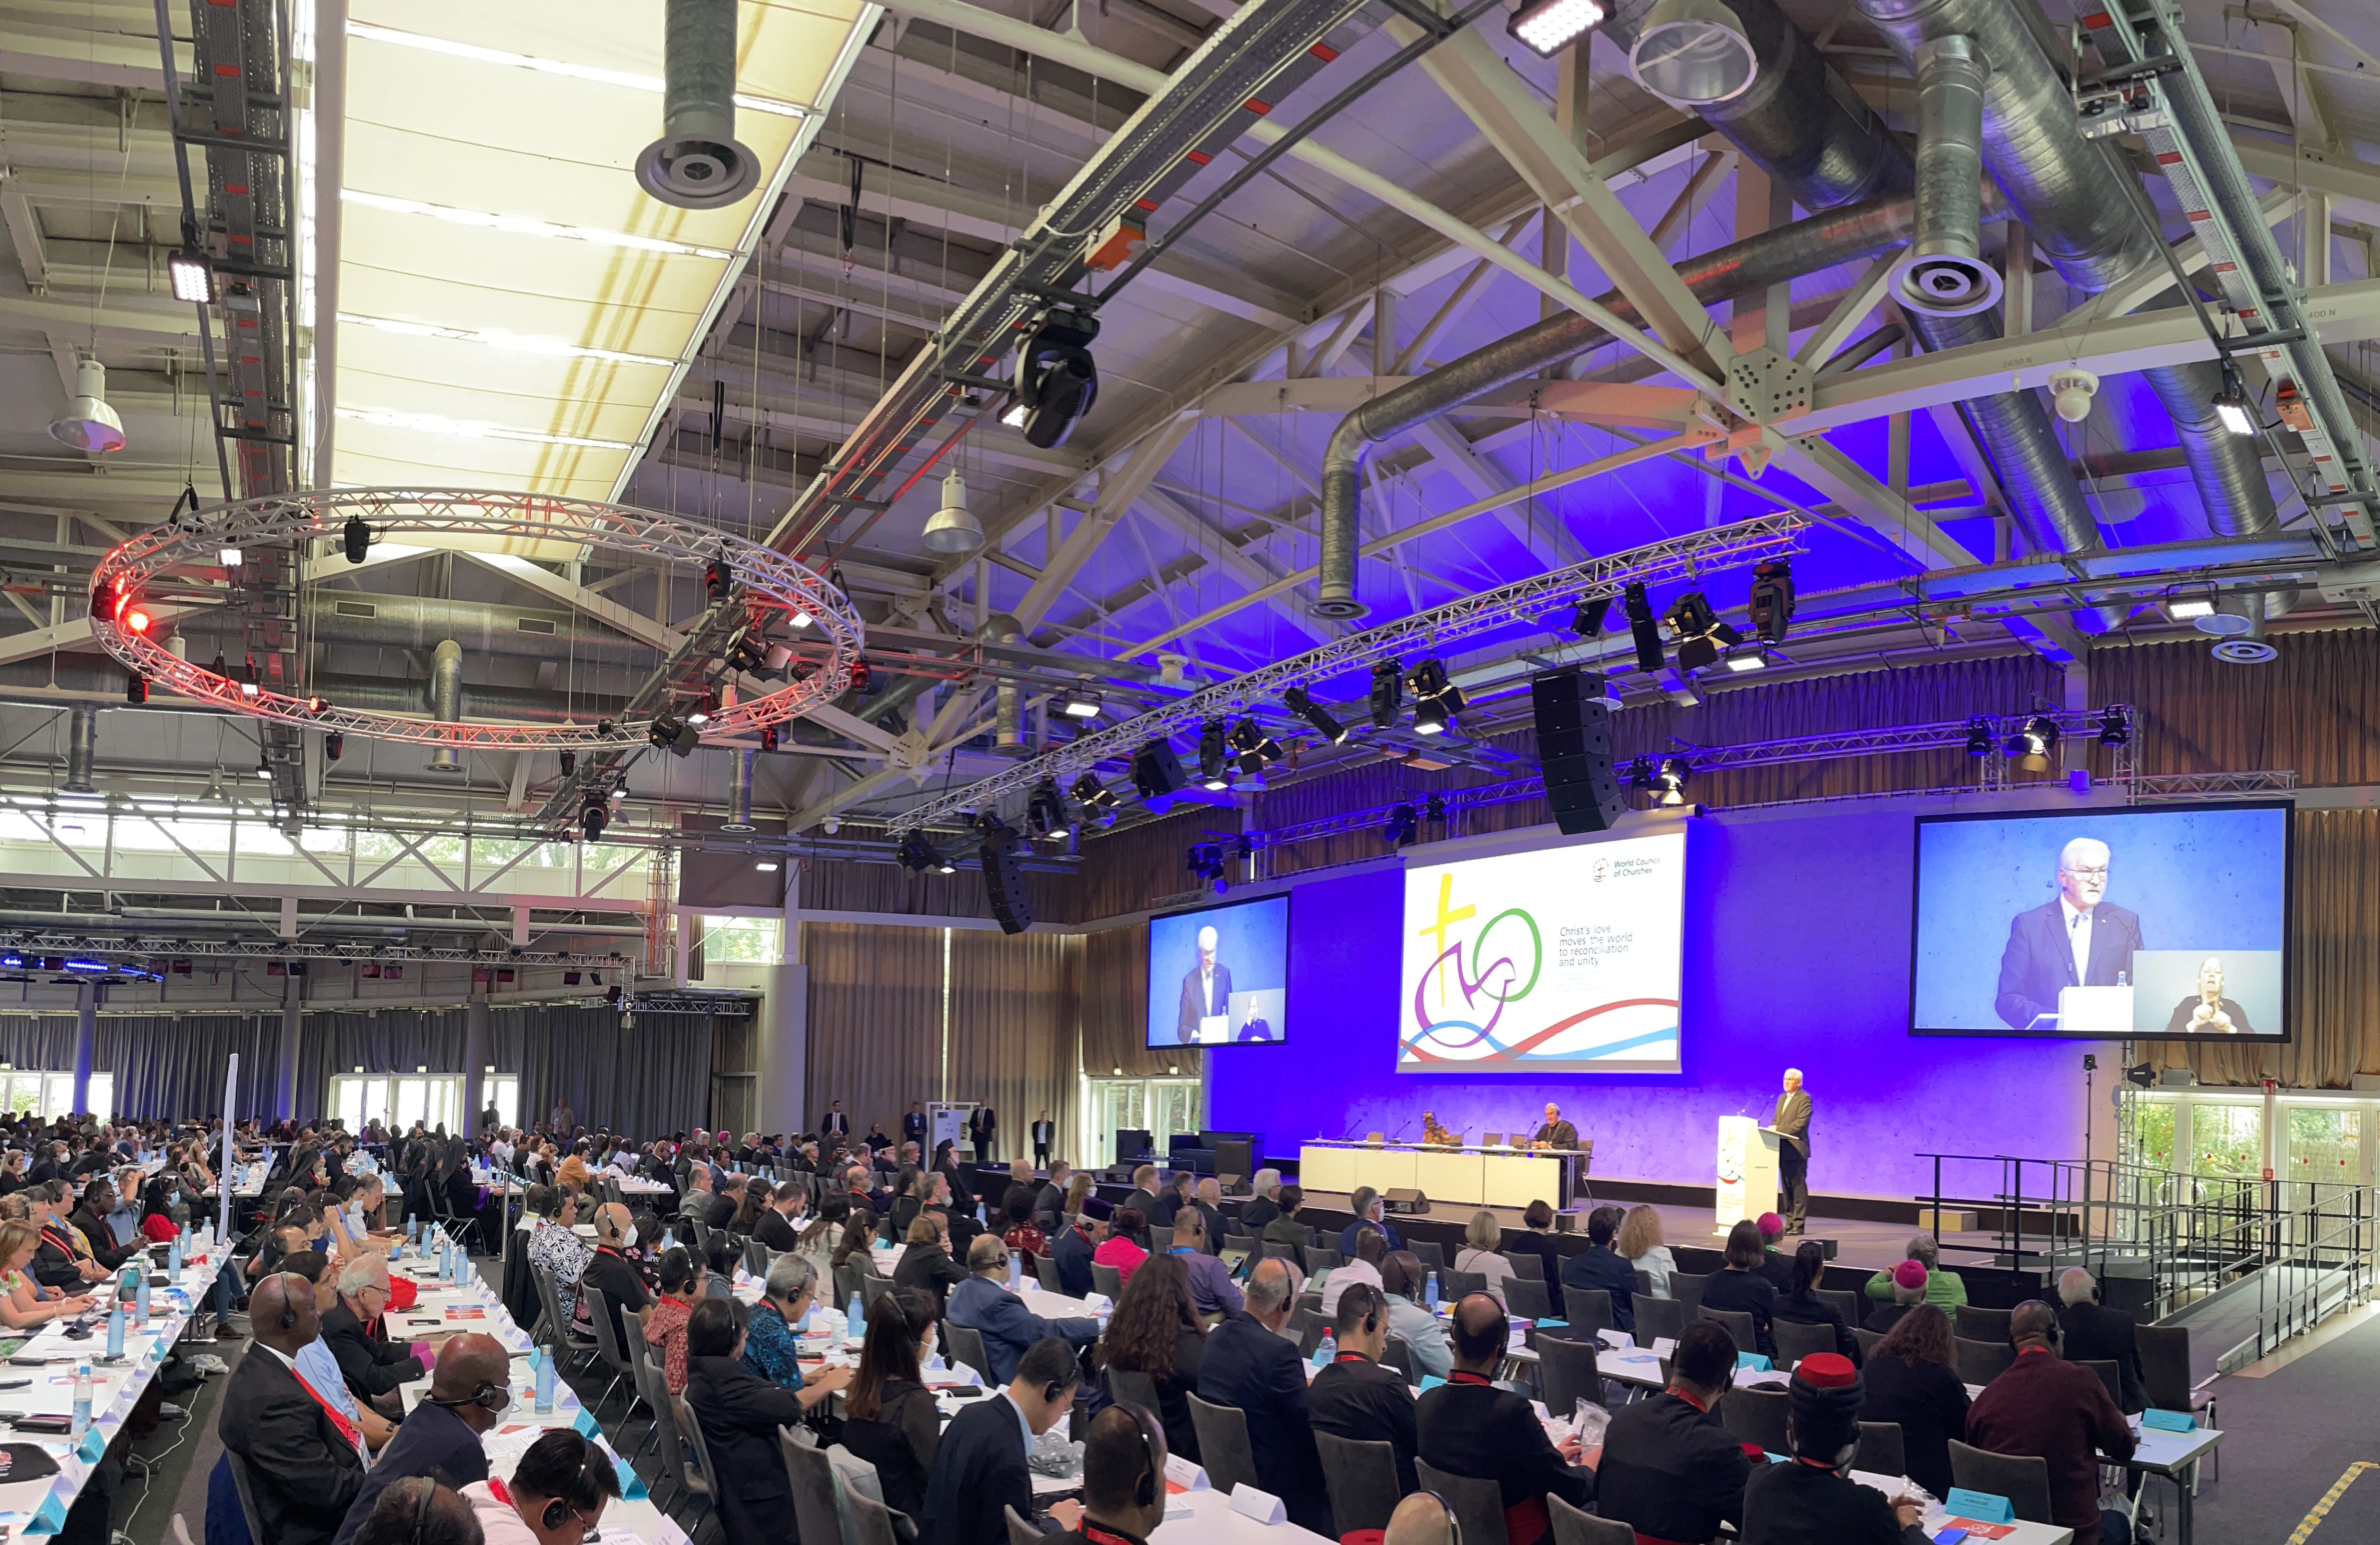
{"type": "MultiPolygon", "coordinates": [[[[1983,93],[1983,159],[2035,247],[2068,283],[2097,295],[2163,261],[2163,233],[2140,219],[2140,190],[2125,185],[2135,174],[2111,157],[2109,143],[2082,138],[2073,100],[2016,5],[2030,0],[1859,0],[1911,67],[1935,38],[1975,43],[1992,69],[1983,93]]],[[[2273,530],[2273,490],[2254,442],[2228,433],[2213,414],[2221,366],[2159,366],[2142,376],[2180,433],[2209,525],[2218,535],[2273,530]]]]}

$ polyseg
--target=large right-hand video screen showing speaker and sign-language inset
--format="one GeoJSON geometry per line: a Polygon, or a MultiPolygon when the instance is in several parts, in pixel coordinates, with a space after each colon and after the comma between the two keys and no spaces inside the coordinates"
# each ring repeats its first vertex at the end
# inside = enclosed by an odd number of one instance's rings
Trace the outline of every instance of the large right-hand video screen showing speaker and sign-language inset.
{"type": "Polygon", "coordinates": [[[2290,808],[1918,820],[1921,1036],[2290,1039],[2290,808]]]}

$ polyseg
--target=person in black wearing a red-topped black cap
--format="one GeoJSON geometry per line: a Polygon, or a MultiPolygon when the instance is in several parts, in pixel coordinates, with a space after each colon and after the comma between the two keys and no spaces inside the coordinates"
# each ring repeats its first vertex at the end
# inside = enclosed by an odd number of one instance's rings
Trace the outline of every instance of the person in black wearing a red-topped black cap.
{"type": "Polygon", "coordinates": [[[1804,1357],[1787,1386],[1790,1464],[1745,1483],[1745,1545],[1925,1545],[1925,1507],[1849,1476],[1859,1452],[1859,1369],[1835,1352],[1804,1357]]]}

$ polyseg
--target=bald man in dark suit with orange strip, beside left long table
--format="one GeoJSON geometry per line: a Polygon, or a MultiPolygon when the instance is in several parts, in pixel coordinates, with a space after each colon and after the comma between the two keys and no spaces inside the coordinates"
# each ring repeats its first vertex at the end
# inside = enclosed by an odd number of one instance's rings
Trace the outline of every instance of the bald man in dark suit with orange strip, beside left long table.
{"type": "Polygon", "coordinates": [[[355,1424],[298,1376],[298,1348],[314,1341],[314,1284],[267,1276],[248,1295],[248,1357],[224,1383],[214,1431],[248,1464],[264,1538],[328,1545],[364,1488],[355,1424]]]}

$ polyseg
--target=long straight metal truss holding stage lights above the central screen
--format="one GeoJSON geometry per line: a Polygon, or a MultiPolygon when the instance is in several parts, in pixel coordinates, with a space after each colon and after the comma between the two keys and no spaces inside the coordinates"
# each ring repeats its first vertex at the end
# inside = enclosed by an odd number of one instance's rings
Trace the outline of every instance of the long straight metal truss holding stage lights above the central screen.
{"type": "Polygon", "coordinates": [[[1138,718],[1085,734],[1083,739],[1045,751],[1033,761],[1016,763],[1007,772],[978,780],[964,789],[952,789],[931,801],[902,811],[888,825],[895,837],[950,822],[964,811],[990,811],[1002,799],[1031,789],[1042,777],[1066,780],[1102,761],[1130,756],[1135,746],[1161,739],[1176,730],[1197,727],[1209,718],[1250,713],[1280,696],[1283,687],[1328,680],[1347,670],[1361,670],[1373,661],[1385,661],[1404,649],[1452,649],[1454,644],[1523,628],[1568,628],[1554,613],[1580,601],[1618,597],[1628,585],[1668,585],[1714,568],[1740,568],[1802,549],[1802,532],[1809,521],[1795,513],[1756,516],[1733,525],[1714,525],[1683,537],[1649,542],[1606,559],[1587,559],[1571,568],[1557,568],[1514,585],[1483,589],[1480,594],[1447,601],[1430,611],[1349,632],[1319,649],[1292,656],[1276,666],[1264,666],[1195,692],[1178,704],[1152,708],[1138,718]]]}

